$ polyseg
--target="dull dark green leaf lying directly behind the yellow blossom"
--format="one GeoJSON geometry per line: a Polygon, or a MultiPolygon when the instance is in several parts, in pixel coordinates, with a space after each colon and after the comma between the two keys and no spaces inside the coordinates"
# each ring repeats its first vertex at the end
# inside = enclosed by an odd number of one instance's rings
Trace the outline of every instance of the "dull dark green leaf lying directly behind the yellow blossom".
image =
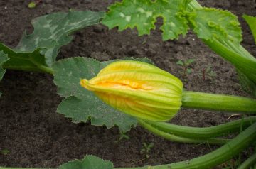
{"type": "MultiPolygon", "coordinates": [[[[145,58],[137,60],[149,62],[145,58]]],[[[114,61],[117,60],[99,62],[92,58],[70,58],[55,62],[54,82],[58,86],[58,94],[66,98],[58,106],[58,113],[72,118],[75,123],[90,120],[95,126],[105,125],[110,128],[117,125],[120,131],[128,131],[132,125],[135,126],[137,120],[134,117],[112,109],[95,94],[80,86],[81,78],[95,77],[103,67],[114,61]]]]}

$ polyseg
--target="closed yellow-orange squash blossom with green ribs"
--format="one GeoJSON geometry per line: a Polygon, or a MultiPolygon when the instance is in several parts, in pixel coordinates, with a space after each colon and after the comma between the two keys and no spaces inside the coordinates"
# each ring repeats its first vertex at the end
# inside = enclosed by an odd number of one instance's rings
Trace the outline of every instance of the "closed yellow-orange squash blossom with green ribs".
{"type": "Polygon", "coordinates": [[[181,108],[181,80],[145,62],[112,62],[80,84],[114,109],[140,119],[167,121],[181,108]]]}

